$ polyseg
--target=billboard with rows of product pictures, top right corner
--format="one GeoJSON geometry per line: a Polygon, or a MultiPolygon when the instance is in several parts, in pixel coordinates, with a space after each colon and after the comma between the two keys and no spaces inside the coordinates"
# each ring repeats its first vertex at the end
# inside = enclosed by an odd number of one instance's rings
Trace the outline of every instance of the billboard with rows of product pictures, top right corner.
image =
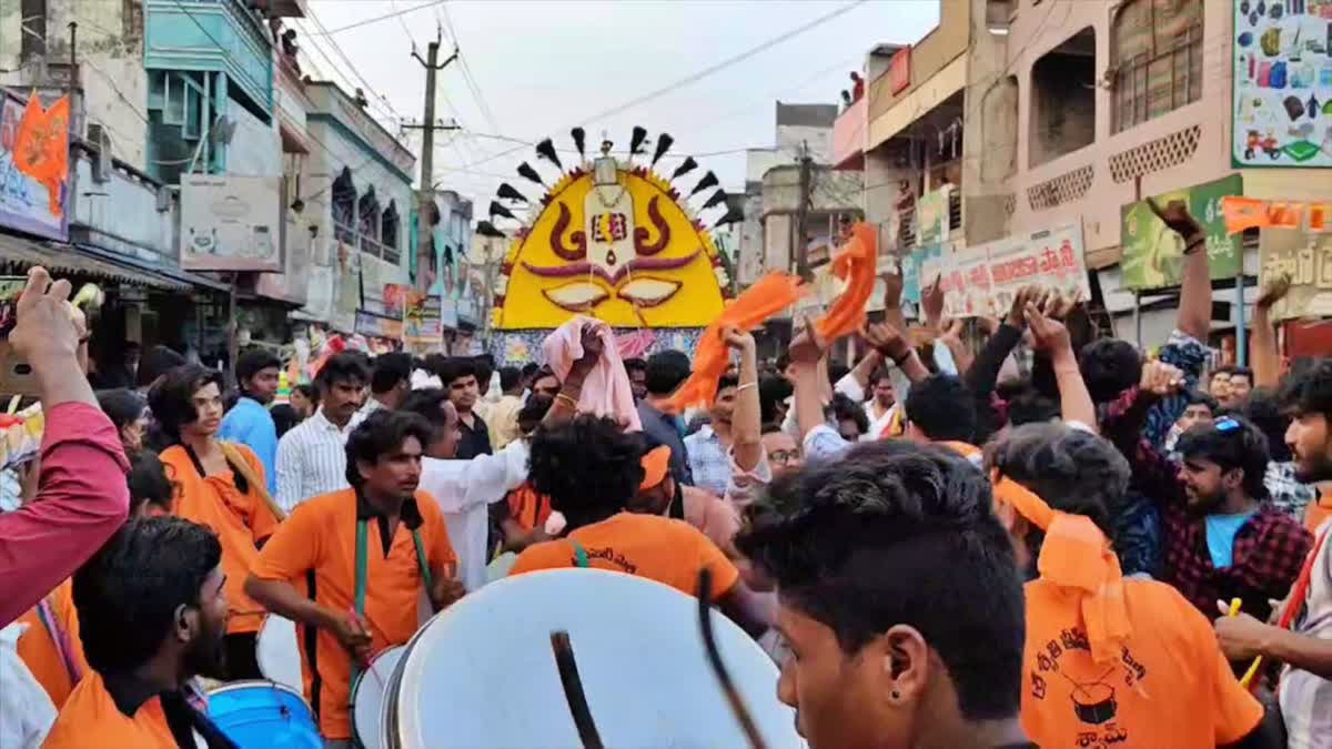
{"type": "Polygon", "coordinates": [[[1232,0],[1235,167],[1332,167],[1332,16],[1320,0],[1232,0]]]}

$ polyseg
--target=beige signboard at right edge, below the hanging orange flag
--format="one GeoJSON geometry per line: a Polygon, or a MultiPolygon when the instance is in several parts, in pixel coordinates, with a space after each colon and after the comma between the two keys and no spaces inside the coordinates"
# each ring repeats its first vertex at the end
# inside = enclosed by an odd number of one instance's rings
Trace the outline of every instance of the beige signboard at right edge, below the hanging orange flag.
{"type": "Polygon", "coordinates": [[[1263,229],[1261,280],[1287,275],[1291,292],[1272,307],[1273,320],[1332,316],[1332,233],[1263,229]]]}

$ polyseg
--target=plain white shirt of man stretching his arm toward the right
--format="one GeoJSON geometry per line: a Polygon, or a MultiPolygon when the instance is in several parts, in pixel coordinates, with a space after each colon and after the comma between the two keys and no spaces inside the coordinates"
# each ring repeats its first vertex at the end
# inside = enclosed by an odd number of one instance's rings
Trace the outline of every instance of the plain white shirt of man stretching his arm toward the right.
{"type": "Polygon", "coordinates": [[[486,581],[488,508],[527,480],[527,452],[526,440],[514,440],[496,454],[472,460],[421,460],[418,489],[440,502],[458,556],[458,580],[468,590],[486,581]]]}

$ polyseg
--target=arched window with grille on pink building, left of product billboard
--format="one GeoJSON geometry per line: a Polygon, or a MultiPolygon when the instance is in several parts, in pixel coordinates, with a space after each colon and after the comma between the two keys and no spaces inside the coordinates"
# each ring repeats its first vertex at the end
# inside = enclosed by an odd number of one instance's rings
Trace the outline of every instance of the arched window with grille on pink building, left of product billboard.
{"type": "Polygon", "coordinates": [[[1203,0],[1130,0],[1111,35],[1115,132],[1203,96],[1203,0]]]}

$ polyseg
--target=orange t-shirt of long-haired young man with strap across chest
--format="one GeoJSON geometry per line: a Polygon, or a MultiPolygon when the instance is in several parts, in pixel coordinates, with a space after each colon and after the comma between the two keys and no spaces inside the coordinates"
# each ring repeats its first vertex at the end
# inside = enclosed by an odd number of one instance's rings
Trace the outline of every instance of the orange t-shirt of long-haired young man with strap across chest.
{"type": "MultiPolygon", "coordinates": [[[[262,484],[264,464],[245,445],[236,445],[236,449],[262,484]]],[[[253,486],[242,494],[230,473],[200,476],[189,453],[180,445],[163,450],[161,461],[168,466],[168,476],[180,486],[176,514],[209,526],[222,545],[222,574],[226,576],[222,589],[230,609],[228,634],[258,632],[264,624],[264,606],[245,594],[245,578],[258,558],[256,544],[273,534],[277,517],[253,486]]]]}

